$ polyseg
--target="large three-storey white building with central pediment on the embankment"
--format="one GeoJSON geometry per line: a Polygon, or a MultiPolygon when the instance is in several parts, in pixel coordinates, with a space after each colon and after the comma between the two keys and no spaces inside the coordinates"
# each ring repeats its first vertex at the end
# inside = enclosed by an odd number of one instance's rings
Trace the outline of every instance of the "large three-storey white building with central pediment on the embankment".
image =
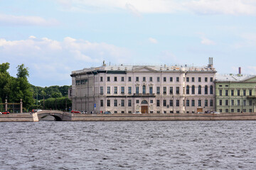
{"type": "Polygon", "coordinates": [[[215,69],[106,66],[74,71],[72,107],[88,113],[197,113],[215,110],[215,69]]]}

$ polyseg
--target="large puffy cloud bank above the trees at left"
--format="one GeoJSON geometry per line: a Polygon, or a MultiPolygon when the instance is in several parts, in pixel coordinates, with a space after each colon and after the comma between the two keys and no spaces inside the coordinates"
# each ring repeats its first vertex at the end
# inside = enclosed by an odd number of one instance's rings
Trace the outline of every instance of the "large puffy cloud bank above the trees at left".
{"type": "Polygon", "coordinates": [[[129,62],[131,53],[125,48],[105,42],[90,42],[70,37],[58,41],[31,35],[26,40],[1,38],[0,56],[1,62],[25,64],[30,70],[32,84],[40,82],[50,86],[69,84],[72,71],[99,66],[103,60],[129,62]]]}

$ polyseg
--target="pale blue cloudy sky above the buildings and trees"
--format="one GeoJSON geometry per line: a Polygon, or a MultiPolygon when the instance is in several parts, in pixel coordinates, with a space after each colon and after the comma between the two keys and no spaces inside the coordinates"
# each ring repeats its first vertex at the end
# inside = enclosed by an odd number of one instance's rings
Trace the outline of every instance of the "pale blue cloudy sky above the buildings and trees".
{"type": "Polygon", "coordinates": [[[107,64],[256,74],[256,0],[0,0],[0,63],[35,86],[107,64]]]}

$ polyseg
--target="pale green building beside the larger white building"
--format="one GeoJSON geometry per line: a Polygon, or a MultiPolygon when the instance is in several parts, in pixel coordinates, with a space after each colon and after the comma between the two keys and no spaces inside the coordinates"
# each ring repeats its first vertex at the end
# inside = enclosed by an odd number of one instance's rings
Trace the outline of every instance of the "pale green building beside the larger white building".
{"type": "Polygon", "coordinates": [[[255,113],[255,91],[255,75],[216,74],[215,111],[220,113],[255,113]]]}

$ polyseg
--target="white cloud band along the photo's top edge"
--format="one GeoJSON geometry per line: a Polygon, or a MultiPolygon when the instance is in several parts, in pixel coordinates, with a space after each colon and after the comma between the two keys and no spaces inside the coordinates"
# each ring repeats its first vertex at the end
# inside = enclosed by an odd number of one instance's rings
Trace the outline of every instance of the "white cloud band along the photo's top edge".
{"type": "Polygon", "coordinates": [[[175,13],[189,11],[199,15],[255,15],[255,0],[58,0],[60,6],[70,8],[70,11],[85,12],[117,12],[118,9],[128,10],[135,16],[142,13],[175,13]]]}

